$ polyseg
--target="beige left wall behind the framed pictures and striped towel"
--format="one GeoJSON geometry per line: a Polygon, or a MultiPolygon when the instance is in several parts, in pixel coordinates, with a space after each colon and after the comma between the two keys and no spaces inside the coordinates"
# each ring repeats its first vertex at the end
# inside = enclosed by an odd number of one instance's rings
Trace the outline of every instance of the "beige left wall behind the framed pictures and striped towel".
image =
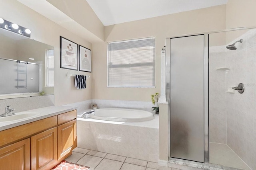
{"type": "Polygon", "coordinates": [[[92,74],[60,68],[60,36],[74,41],[89,49],[92,44],[78,35],[71,33],[60,25],[48,20],[44,16],[31,10],[17,1],[0,1],[0,16],[31,29],[31,39],[54,46],[54,94],[55,105],[70,104],[92,99],[92,74]],[[86,89],[78,90],[74,87],[74,77],[67,78],[67,72],[72,74],[89,74],[86,89]]]}

